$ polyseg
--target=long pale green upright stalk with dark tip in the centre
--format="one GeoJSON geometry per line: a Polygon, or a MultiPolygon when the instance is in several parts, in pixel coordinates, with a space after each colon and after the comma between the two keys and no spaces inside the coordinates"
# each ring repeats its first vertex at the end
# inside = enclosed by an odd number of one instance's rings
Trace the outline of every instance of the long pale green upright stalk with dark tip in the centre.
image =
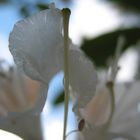
{"type": "Polygon", "coordinates": [[[64,90],[65,90],[65,106],[64,106],[64,128],[63,140],[66,138],[67,119],[68,119],[68,103],[69,103],[69,17],[70,10],[65,8],[63,14],[63,29],[64,29],[64,90]]]}

